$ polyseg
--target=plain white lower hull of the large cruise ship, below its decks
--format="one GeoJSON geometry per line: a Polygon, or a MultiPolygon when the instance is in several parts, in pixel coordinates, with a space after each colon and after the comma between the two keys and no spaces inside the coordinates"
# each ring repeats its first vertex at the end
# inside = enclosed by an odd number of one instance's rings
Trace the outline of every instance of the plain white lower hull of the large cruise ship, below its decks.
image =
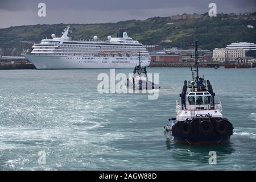
{"type": "MultiPolygon", "coordinates": [[[[51,56],[24,55],[36,69],[86,69],[86,68],[134,68],[139,60],[134,57],[81,57],[81,56],[51,56]]],[[[142,67],[150,65],[150,57],[142,57],[142,67]]]]}

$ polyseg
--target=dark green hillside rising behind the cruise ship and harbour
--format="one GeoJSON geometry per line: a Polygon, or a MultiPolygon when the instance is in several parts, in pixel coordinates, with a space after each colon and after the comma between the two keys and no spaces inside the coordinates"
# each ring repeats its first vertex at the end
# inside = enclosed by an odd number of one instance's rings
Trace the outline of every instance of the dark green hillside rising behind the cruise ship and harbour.
{"type": "MultiPolygon", "coordinates": [[[[73,39],[92,39],[97,35],[106,39],[115,36],[118,28],[123,28],[133,39],[144,45],[163,45],[164,47],[188,48],[197,35],[200,48],[214,49],[226,47],[232,42],[256,43],[256,14],[217,17],[203,15],[200,19],[173,20],[170,17],[154,17],[146,20],[127,20],[117,23],[71,24],[73,39]],[[167,24],[173,23],[173,24],[167,24]],[[247,28],[251,24],[254,28],[247,28]],[[171,40],[172,42],[163,42],[171,40]]],[[[31,48],[31,44],[20,41],[39,42],[50,38],[52,33],[61,35],[67,24],[38,24],[0,29],[0,52],[2,55],[19,55],[22,49],[31,48]]]]}

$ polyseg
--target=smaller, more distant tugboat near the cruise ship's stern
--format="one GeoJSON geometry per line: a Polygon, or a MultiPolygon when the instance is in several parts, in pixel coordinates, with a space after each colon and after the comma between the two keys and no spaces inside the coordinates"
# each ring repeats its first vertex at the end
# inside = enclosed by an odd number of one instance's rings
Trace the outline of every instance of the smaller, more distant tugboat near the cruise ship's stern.
{"type": "Polygon", "coordinates": [[[146,67],[141,66],[141,53],[139,51],[139,65],[135,66],[133,76],[127,78],[126,85],[134,90],[160,89],[158,84],[148,80],[146,67]]]}

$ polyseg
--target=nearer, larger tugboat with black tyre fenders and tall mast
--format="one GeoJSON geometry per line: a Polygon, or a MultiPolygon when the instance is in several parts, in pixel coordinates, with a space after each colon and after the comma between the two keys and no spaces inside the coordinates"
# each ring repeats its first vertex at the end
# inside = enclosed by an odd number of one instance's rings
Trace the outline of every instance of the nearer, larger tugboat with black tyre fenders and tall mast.
{"type": "Polygon", "coordinates": [[[188,86],[187,81],[184,81],[181,103],[176,102],[176,118],[168,119],[164,129],[172,135],[174,143],[227,143],[233,134],[233,125],[222,117],[221,102],[215,100],[210,81],[199,77],[197,39],[193,46],[195,68],[191,68],[192,81],[188,82],[188,86]]]}

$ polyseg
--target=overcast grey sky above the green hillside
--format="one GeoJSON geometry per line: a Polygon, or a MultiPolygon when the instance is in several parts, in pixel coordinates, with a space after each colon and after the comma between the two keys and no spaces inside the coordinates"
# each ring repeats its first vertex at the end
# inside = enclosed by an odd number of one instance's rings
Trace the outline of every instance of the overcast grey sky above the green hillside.
{"type": "Polygon", "coordinates": [[[107,23],[153,16],[206,13],[209,3],[217,13],[256,11],[255,0],[0,0],[0,28],[28,24],[107,23]],[[46,3],[46,17],[38,3],[46,3]]]}

